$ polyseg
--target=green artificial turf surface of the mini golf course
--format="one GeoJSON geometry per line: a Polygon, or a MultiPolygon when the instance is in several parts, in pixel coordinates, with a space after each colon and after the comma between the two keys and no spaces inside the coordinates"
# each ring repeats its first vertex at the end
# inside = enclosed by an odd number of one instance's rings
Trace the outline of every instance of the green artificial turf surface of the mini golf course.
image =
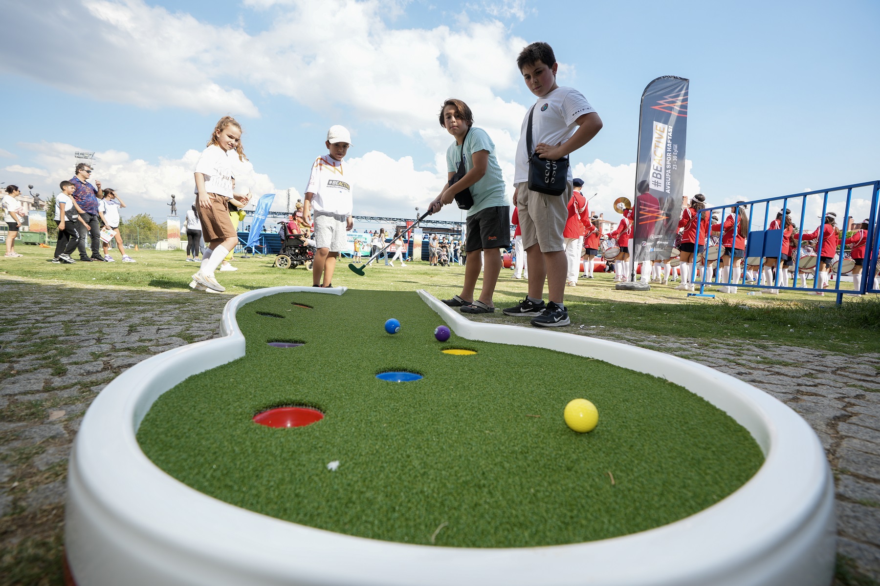
{"type": "Polygon", "coordinates": [[[555,351],[436,342],[442,322],[416,293],[280,293],[237,317],[246,357],[163,394],[137,438],[168,474],[272,517],[416,544],[576,543],[692,515],[763,462],[730,416],[666,380],[555,351]],[[389,317],[399,334],[385,333],[389,317]],[[393,370],[424,379],[375,378],[393,370]],[[562,419],[578,397],[599,411],[587,434],[562,419]],[[281,405],[326,416],[253,423],[281,405]]]}

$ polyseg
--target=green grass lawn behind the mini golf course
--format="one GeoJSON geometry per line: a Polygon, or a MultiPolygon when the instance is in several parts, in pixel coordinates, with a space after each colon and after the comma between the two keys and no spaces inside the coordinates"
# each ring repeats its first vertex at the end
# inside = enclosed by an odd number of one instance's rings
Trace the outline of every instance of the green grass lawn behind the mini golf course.
{"type": "MultiPolygon", "coordinates": [[[[36,279],[40,282],[81,286],[121,286],[158,288],[194,293],[189,290],[194,263],[184,262],[182,251],[143,250],[132,252],[136,264],[77,263],[51,264],[51,250],[19,247],[22,258],[0,257],[0,278],[4,275],[36,279]]],[[[297,269],[275,269],[273,257],[240,259],[235,272],[218,272],[220,282],[230,294],[267,286],[312,285],[312,273],[297,269]]],[[[432,267],[408,263],[407,267],[375,264],[359,277],[348,270],[348,259],[337,265],[334,285],[383,291],[426,289],[441,298],[460,292],[464,267],[432,267]]],[[[479,286],[479,284],[478,284],[479,286]]],[[[526,292],[525,280],[513,279],[512,271],[502,270],[495,291],[498,307],[514,305],[526,292]]],[[[610,274],[597,273],[593,280],[581,279],[566,290],[566,304],[572,331],[589,335],[590,326],[631,329],[656,336],[693,337],[706,344],[735,348],[738,341],[774,342],[793,346],[823,348],[841,353],[880,351],[880,300],[876,295],[845,297],[842,306],[835,297],[808,293],[781,293],[777,296],[716,293],[715,300],[687,298],[673,286],[651,286],[649,292],[615,291],[610,274]],[[578,329],[584,325],[585,329],[578,329]]],[[[496,322],[517,322],[501,312],[480,318],[496,322]]],[[[522,322],[518,322],[522,323],[522,322]]]]}

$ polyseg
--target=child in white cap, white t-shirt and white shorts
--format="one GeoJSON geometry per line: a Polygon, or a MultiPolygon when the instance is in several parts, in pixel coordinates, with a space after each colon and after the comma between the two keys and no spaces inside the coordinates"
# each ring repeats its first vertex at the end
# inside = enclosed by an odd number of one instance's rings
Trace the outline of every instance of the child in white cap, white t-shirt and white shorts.
{"type": "Polygon", "coordinates": [[[350,146],[351,134],[345,127],[330,127],[326,140],[330,152],[315,159],[305,188],[303,216],[308,219],[314,210],[314,239],[318,249],[312,264],[312,286],[333,286],[336,257],[348,249],[345,233],[355,227],[351,217],[351,178],[345,176],[342,166],[342,159],[350,146]]]}

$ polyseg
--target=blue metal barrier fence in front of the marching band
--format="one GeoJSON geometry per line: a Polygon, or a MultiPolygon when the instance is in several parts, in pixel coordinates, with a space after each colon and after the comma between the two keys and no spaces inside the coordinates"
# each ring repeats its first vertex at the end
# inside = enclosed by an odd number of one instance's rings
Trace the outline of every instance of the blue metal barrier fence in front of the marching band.
{"type": "MultiPolygon", "coordinates": [[[[696,242],[702,242],[706,246],[705,253],[702,254],[702,259],[698,260],[698,256],[694,255],[694,263],[693,263],[693,277],[691,283],[694,286],[700,286],[700,293],[688,293],[688,296],[691,297],[715,297],[715,295],[706,293],[707,286],[722,286],[722,287],[748,287],[752,289],[771,289],[771,290],[791,290],[791,291],[813,291],[817,293],[837,293],[837,302],[840,303],[843,300],[843,295],[848,294],[863,294],[863,293],[880,293],[880,289],[875,287],[875,275],[876,275],[876,267],[877,267],[877,256],[880,253],[880,227],[878,227],[878,221],[880,221],[880,217],[878,217],[878,193],[880,193],[880,180],[878,181],[870,181],[867,183],[860,184],[851,184],[851,185],[843,185],[840,187],[832,187],[830,189],[823,189],[814,192],[804,192],[804,193],[795,193],[791,195],[786,195],[777,198],[767,198],[767,199],[755,199],[753,201],[739,202],[733,205],[728,206],[715,206],[715,207],[706,207],[701,209],[697,214],[697,226],[696,226],[696,242]],[[845,274],[843,271],[843,266],[845,264],[845,246],[844,242],[847,237],[848,219],[849,213],[853,203],[853,190],[858,188],[869,188],[871,192],[870,198],[870,209],[869,209],[869,224],[868,224],[868,238],[865,246],[865,257],[862,264],[862,279],[860,281],[860,286],[858,289],[844,289],[841,283],[841,277],[845,274]],[[847,225],[842,227],[842,237],[840,238],[840,248],[837,251],[836,257],[837,260],[832,263],[825,263],[822,259],[827,258],[822,256],[822,245],[825,240],[825,216],[829,213],[828,203],[829,196],[831,194],[837,194],[840,192],[846,192],[846,204],[845,210],[843,214],[843,222],[847,225]],[[798,287],[798,274],[803,272],[809,272],[811,268],[811,258],[812,255],[803,255],[803,229],[804,229],[804,221],[807,213],[807,198],[810,196],[822,196],[822,214],[818,217],[819,227],[818,227],[818,242],[816,244],[817,254],[815,259],[812,262],[815,262],[815,270],[813,271],[815,274],[813,275],[812,281],[813,285],[798,287]],[[771,204],[773,202],[781,202],[781,211],[782,219],[781,219],[781,228],[780,229],[767,229],[768,224],[770,223],[770,214],[771,214],[771,204]],[[794,267],[794,286],[780,286],[781,279],[781,271],[779,271],[779,267],[782,266],[782,245],[783,238],[786,232],[786,210],[789,209],[789,202],[793,202],[793,206],[796,207],[797,204],[800,204],[800,221],[797,226],[797,243],[796,246],[792,246],[789,252],[795,252],[796,254],[789,258],[790,261],[793,261],[794,267]],[[762,230],[752,230],[752,219],[755,215],[756,206],[759,206],[758,209],[764,208],[764,226],[762,230]],[[738,208],[740,207],[748,207],[748,222],[747,222],[747,230],[746,230],[746,242],[744,249],[744,257],[743,264],[744,269],[747,269],[748,259],[749,258],[759,258],[759,279],[757,279],[756,284],[751,284],[746,282],[746,271],[742,271],[742,279],[733,279],[733,270],[729,253],[725,252],[725,247],[723,246],[722,237],[724,233],[724,223],[728,220],[728,216],[726,215],[726,211],[729,210],[730,214],[733,217],[733,239],[731,243],[731,247],[727,248],[736,248],[737,244],[737,232],[739,228],[739,214],[737,213],[738,208]],[[710,235],[700,234],[700,226],[703,219],[708,214],[709,218],[712,218],[712,213],[718,211],[719,217],[717,224],[720,224],[720,231],[712,231],[710,229],[710,235]],[[715,242],[713,238],[715,234],[718,234],[718,241],[715,242]],[[715,248],[716,247],[716,248],[715,248]],[[713,249],[712,255],[710,257],[709,249],[713,249]],[[727,266],[731,267],[730,271],[725,271],[726,276],[719,280],[722,275],[720,269],[722,266],[722,258],[726,258],[727,266]],[[767,259],[775,259],[775,267],[777,270],[774,275],[774,283],[773,284],[761,284],[761,280],[764,275],[764,268],[767,259]],[[806,261],[806,262],[802,262],[806,261]],[[803,264],[803,266],[802,266],[803,264]],[[833,287],[823,287],[823,283],[820,279],[819,268],[822,264],[830,264],[829,268],[833,269],[833,266],[836,264],[835,271],[835,279],[833,287]],[[702,267],[702,279],[696,279],[696,269],[698,266],[702,267]],[[709,271],[710,266],[717,266],[718,271],[715,271],[715,276],[711,280],[707,280],[706,276],[709,271]]],[[[861,223],[861,222],[860,222],[861,223]]],[[[807,224],[807,228],[810,225],[807,224]]],[[[695,247],[696,248],[696,247],[695,247]]],[[[754,266],[752,264],[751,266],[754,266]]],[[[788,271],[788,268],[785,268],[788,271]]]]}

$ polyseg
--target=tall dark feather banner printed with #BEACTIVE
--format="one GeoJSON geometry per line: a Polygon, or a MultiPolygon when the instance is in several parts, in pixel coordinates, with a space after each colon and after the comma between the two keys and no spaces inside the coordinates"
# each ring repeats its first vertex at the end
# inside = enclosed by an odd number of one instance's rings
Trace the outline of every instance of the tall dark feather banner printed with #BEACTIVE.
{"type": "Polygon", "coordinates": [[[678,233],[689,83],[682,77],[657,77],[642,92],[632,242],[638,261],[669,258],[678,233]]]}

